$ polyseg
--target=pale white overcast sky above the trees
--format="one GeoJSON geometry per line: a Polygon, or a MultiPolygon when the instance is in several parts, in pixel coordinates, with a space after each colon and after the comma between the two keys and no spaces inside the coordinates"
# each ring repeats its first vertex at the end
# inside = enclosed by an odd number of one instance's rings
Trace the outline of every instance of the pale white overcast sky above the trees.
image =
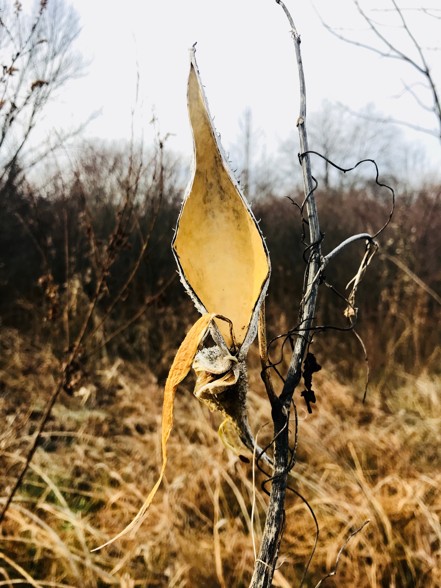
{"type": "MultiPolygon", "coordinates": [[[[101,116],[89,125],[85,135],[127,138],[135,105],[138,59],[142,105],[135,117],[135,134],[141,135],[143,128],[146,140],[150,138],[154,105],[161,133],[175,133],[169,146],[190,153],[186,78],[188,48],[197,41],[199,70],[216,128],[227,149],[236,140],[238,118],[247,105],[265,131],[268,151],[276,149],[279,140],[295,128],[299,111],[295,52],[286,16],[274,0],[74,0],[74,5],[83,27],[77,47],[92,63],[88,75],[69,83],[52,104],[48,123],[66,127],[102,108],[101,116]]],[[[407,83],[421,80],[415,70],[339,41],[320,24],[311,2],[286,0],[286,5],[302,38],[309,112],[319,109],[325,98],[354,110],[375,102],[386,115],[436,126],[433,115],[411,96],[393,98],[403,89],[400,79],[407,83]]],[[[372,9],[388,4],[387,0],[366,0],[365,5],[372,9]]],[[[402,0],[400,5],[415,6],[418,0],[402,0]]],[[[441,8],[439,0],[427,0],[424,6],[428,5],[441,8]]],[[[347,35],[375,42],[352,0],[315,0],[315,6],[329,24],[354,29],[347,35]]],[[[376,18],[389,15],[369,14],[376,18]]],[[[424,45],[441,46],[440,20],[422,18],[412,11],[404,14],[424,45]]],[[[441,11],[437,14],[441,16],[441,11]]],[[[400,29],[384,30],[400,42],[400,29]]],[[[411,50],[407,41],[401,46],[411,50]]],[[[428,55],[440,82],[441,53],[431,51],[428,55]]],[[[435,138],[413,131],[406,131],[406,136],[423,143],[433,162],[440,160],[441,148],[435,138]]]]}

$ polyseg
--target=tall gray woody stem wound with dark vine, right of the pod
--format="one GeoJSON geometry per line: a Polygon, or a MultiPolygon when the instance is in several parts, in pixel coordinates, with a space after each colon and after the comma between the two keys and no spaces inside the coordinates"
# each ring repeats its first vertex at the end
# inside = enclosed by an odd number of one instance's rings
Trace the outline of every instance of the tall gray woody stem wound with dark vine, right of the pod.
{"type": "MultiPolygon", "coordinates": [[[[277,4],[282,6],[291,25],[292,37],[295,45],[297,65],[300,80],[300,116],[297,126],[300,135],[300,152],[308,151],[308,138],[306,137],[306,91],[305,77],[303,75],[302,56],[300,55],[300,36],[296,31],[294,22],[282,0],[276,0],[277,4]]],[[[265,529],[263,530],[262,542],[258,559],[255,563],[253,577],[250,588],[269,588],[272,583],[272,577],[279,553],[280,540],[283,533],[283,524],[285,521],[285,493],[286,493],[286,476],[288,475],[288,419],[289,409],[292,402],[292,395],[295,387],[300,381],[302,375],[302,360],[305,355],[306,345],[308,343],[309,329],[312,323],[319,280],[315,279],[316,274],[322,265],[322,256],[320,253],[320,230],[317,208],[315,204],[313,182],[311,176],[311,167],[309,153],[302,157],[303,189],[306,198],[306,211],[308,212],[310,242],[316,243],[311,249],[309,268],[308,268],[308,288],[307,295],[303,304],[302,328],[304,329],[296,340],[291,363],[286,376],[285,385],[282,393],[276,402],[272,402],[272,417],[274,422],[274,466],[273,479],[271,486],[271,495],[266,515],[265,529]]]]}

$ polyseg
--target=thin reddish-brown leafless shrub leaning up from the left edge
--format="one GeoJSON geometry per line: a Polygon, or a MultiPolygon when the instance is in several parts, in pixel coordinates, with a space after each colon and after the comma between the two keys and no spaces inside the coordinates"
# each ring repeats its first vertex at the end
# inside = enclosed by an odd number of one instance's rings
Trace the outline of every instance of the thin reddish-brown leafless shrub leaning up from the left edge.
{"type": "MultiPolygon", "coordinates": [[[[153,123],[155,120],[153,119],[153,123]]],[[[155,128],[156,131],[156,128],[155,128]]],[[[65,263],[65,284],[64,295],[60,296],[59,285],[55,282],[51,269],[51,263],[47,255],[48,235],[45,235],[44,228],[41,226],[38,218],[38,202],[35,195],[30,193],[29,198],[35,203],[36,224],[41,234],[41,245],[34,237],[34,244],[38,248],[42,257],[43,275],[39,278],[38,283],[45,292],[47,312],[44,322],[52,326],[53,334],[64,330],[64,361],[61,365],[58,384],[54,387],[51,395],[46,400],[42,417],[36,426],[31,442],[26,448],[24,462],[19,469],[18,476],[8,487],[8,493],[4,504],[0,508],[0,523],[5,516],[16,491],[24,479],[29,463],[34,457],[38,447],[41,433],[44,430],[52,408],[55,405],[62,390],[72,395],[75,386],[78,385],[81,378],[85,375],[85,362],[96,355],[101,349],[120,335],[124,330],[138,320],[148,307],[165,292],[166,288],[173,282],[176,277],[175,273],[169,276],[168,280],[159,280],[155,285],[156,292],[151,296],[145,296],[144,300],[137,305],[136,312],[132,314],[122,324],[105,335],[104,327],[109,322],[115,307],[118,308],[121,302],[125,302],[130,294],[130,287],[135,279],[138,269],[145,260],[145,254],[150,244],[153,229],[155,228],[158,215],[161,210],[161,204],[164,198],[165,186],[169,174],[172,172],[164,154],[164,145],[168,135],[161,136],[159,131],[155,133],[155,142],[153,152],[146,153],[143,148],[143,142],[135,144],[133,132],[129,148],[126,153],[118,154],[113,157],[110,152],[99,153],[99,150],[93,149],[93,146],[85,152],[83,161],[76,165],[72,163],[72,179],[69,191],[66,189],[63,173],[59,173],[53,178],[56,188],[58,188],[58,197],[64,203],[63,219],[64,224],[64,263],[65,263]],[[146,158],[147,155],[147,158],[146,158]],[[146,161],[147,159],[147,161],[146,161]],[[85,160],[85,161],[84,161],[85,160]],[[96,192],[99,190],[95,186],[87,186],[87,172],[92,172],[95,179],[101,180],[99,171],[102,171],[105,186],[102,186],[104,192],[110,193],[111,204],[115,212],[115,218],[111,224],[112,230],[108,238],[100,239],[96,233],[96,216],[92,215],[93,200],[96,199],[96,192]],[[98,176],[98,178],[97,178],[98,176]],[[91,197],[89,196],[89,190],[91,197]],[[93,189],[95,188],[95,190],[93,189]],[[70,192],[70,193],[68,193],[70,192]],[[61,194],[61,196],[60,196],[61,194]],[[68,216],[69,200],[78,200],[81,213],[76,215],[75,219],[68,216]],[[92,202],[91,202],[92,201],[92,202]],[[95,216],[95,218],[93,218],[95,216]],[[95,222],[93,222],[95,220],[95,222]],[[81,230],[88,240],[88,253],[90,278],[92,283],[91,293],[88,296],[88,302],[85,304],[83,315],[78,321],[76,312],[72,313],[70,308],[70,291],[72,281],[72,268],[69,260],[71,259],[71,245],[69,245],[69,224],[78,223],[78,230],[81,230]],[[111,279],[112,269],[121,258],[122,252],[131,250],[133,245],[137,247],[136,255],[133,256],[131,265],[126,266],[126,271],[122,276],[121,283],[116,291],[109,288],[108,282],[111,279]],[[59,307],[64,306],[62,312],[59,307]],[[63,328],[59,329],[57,318],[62,319],[63,328]]],[[[78,209],[77,209],[78,210],[78,209]]],[[[23,219],[19,217],[25,226],[29,235],[31,230],[26,226],[23,219]]],[[[78,276],[75,276],[78,279],[78,276]]],[[[115,290],[115,288],[113,288],[115,290]]],[[[59,342],[58,342],[59,343],[59,342]]]]}

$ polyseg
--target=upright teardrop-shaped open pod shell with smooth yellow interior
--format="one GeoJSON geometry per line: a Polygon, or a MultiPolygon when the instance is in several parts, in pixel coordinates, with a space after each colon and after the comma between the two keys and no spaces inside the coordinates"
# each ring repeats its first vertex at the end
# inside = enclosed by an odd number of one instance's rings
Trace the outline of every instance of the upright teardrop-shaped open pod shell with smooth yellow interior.
{"type": "MultiPolygon", "coordinates": [[[[199,312],[228,317],[246,357],[256,336],[268,288],[265,240],[230,168],[209,113],[194,49],[188,79],[188,111],[194,140],[192,177],[173,239],[181,281],[199,312]]],[[[228,324],[216,320],[217,345],[236,353],[228,324]]]]}

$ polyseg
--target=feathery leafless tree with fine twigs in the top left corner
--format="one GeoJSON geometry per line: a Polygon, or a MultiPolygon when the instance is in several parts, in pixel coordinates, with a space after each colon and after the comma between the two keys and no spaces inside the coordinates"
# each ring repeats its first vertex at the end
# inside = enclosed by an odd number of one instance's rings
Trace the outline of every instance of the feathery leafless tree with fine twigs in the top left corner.
{"type": "Polygon", "coordinates": [[[40,0],[32,14],[21,2],[0,4],[0,186],[18,163],[35,165],[74,132],[55,142],[32,145],[29,138],[56,91],[85,68],[74,42],[79,17],[64,0],[40,0]]]}

